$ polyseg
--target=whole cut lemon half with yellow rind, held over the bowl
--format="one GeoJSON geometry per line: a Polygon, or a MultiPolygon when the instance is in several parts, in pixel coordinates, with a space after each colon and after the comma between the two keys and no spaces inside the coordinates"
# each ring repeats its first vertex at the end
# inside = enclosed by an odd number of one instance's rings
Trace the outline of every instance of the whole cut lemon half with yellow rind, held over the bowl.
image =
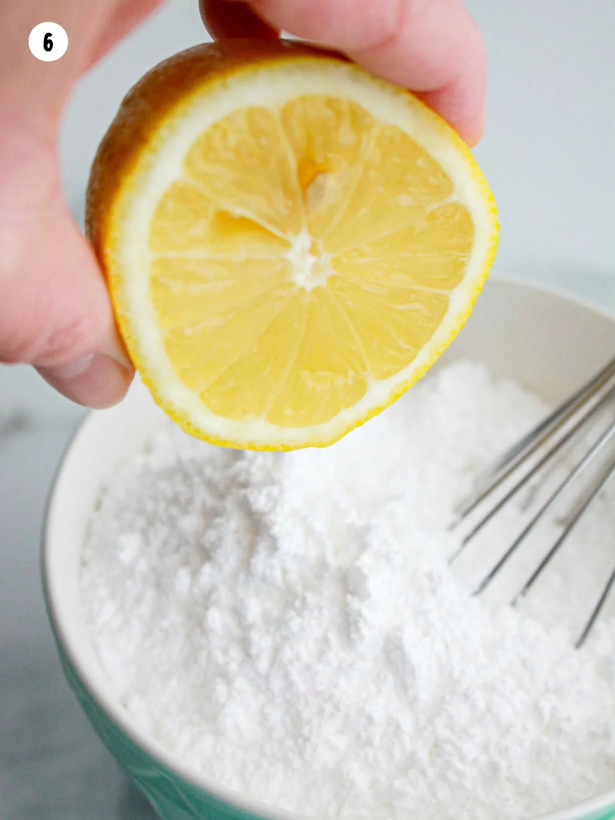
{"type": "Polygon", "coordinates": [[[135,87],[87,224],[157,402],[256,449],[330,444],[408,389],[471,312],[498,234],[471,153],[410,93],[249,41],[135,87]]]}

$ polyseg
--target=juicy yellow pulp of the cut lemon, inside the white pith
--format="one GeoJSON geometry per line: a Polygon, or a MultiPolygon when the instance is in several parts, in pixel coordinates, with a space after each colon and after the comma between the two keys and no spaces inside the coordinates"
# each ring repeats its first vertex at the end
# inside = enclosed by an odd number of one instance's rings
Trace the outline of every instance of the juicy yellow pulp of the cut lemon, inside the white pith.
{"type": "Polygon", "coordinates": [[[166,354],[216,415],[330,421],[416,358],[473,223],[408,134],[356,103],[246,107],[189,149],[150,231],[166,354]]]}

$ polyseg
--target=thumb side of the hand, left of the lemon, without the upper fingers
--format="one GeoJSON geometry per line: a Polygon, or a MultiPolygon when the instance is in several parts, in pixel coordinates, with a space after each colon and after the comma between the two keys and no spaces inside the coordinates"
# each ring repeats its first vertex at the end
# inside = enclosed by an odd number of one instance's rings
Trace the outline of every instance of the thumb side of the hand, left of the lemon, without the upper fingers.
{"type": "Polygon", "coordinates": [[[134,375],[107,286],[62,196],[57,126],[80,75],[158,0],[5,0],[0,16],[0,362],[30,362],[69,399],[107,407],[134,375]],[[57,62],[28,49],[34,25],[64,27],[57,62]]]}

